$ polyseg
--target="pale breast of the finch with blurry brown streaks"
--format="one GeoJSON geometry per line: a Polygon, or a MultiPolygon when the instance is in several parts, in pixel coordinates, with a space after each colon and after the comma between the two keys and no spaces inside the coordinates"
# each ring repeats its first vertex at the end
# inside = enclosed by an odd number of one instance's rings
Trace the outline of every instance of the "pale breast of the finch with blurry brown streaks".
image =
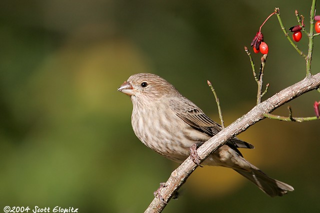
{"type": "Polygon", "coordinates": [[[204,136],[163,102],[133,104],[131,124],[135,135],[146,146],[177,162],[182,162],[189,155],[190,145],[204,136]]]}

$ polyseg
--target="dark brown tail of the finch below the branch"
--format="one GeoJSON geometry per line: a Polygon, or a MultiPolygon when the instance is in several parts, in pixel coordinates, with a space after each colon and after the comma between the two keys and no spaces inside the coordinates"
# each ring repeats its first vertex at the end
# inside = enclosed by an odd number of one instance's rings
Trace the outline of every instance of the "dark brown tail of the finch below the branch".
{"type": "Polygon", "coordinates": [[[282,196],[288,191],[294,190],[291,185],[288,185],[276,179],[272,179],[259,169],[252,168],[250,171],[241,169],[234,170],[256,184],[262,191],[264,191],[271,197],[282,196]]]}

